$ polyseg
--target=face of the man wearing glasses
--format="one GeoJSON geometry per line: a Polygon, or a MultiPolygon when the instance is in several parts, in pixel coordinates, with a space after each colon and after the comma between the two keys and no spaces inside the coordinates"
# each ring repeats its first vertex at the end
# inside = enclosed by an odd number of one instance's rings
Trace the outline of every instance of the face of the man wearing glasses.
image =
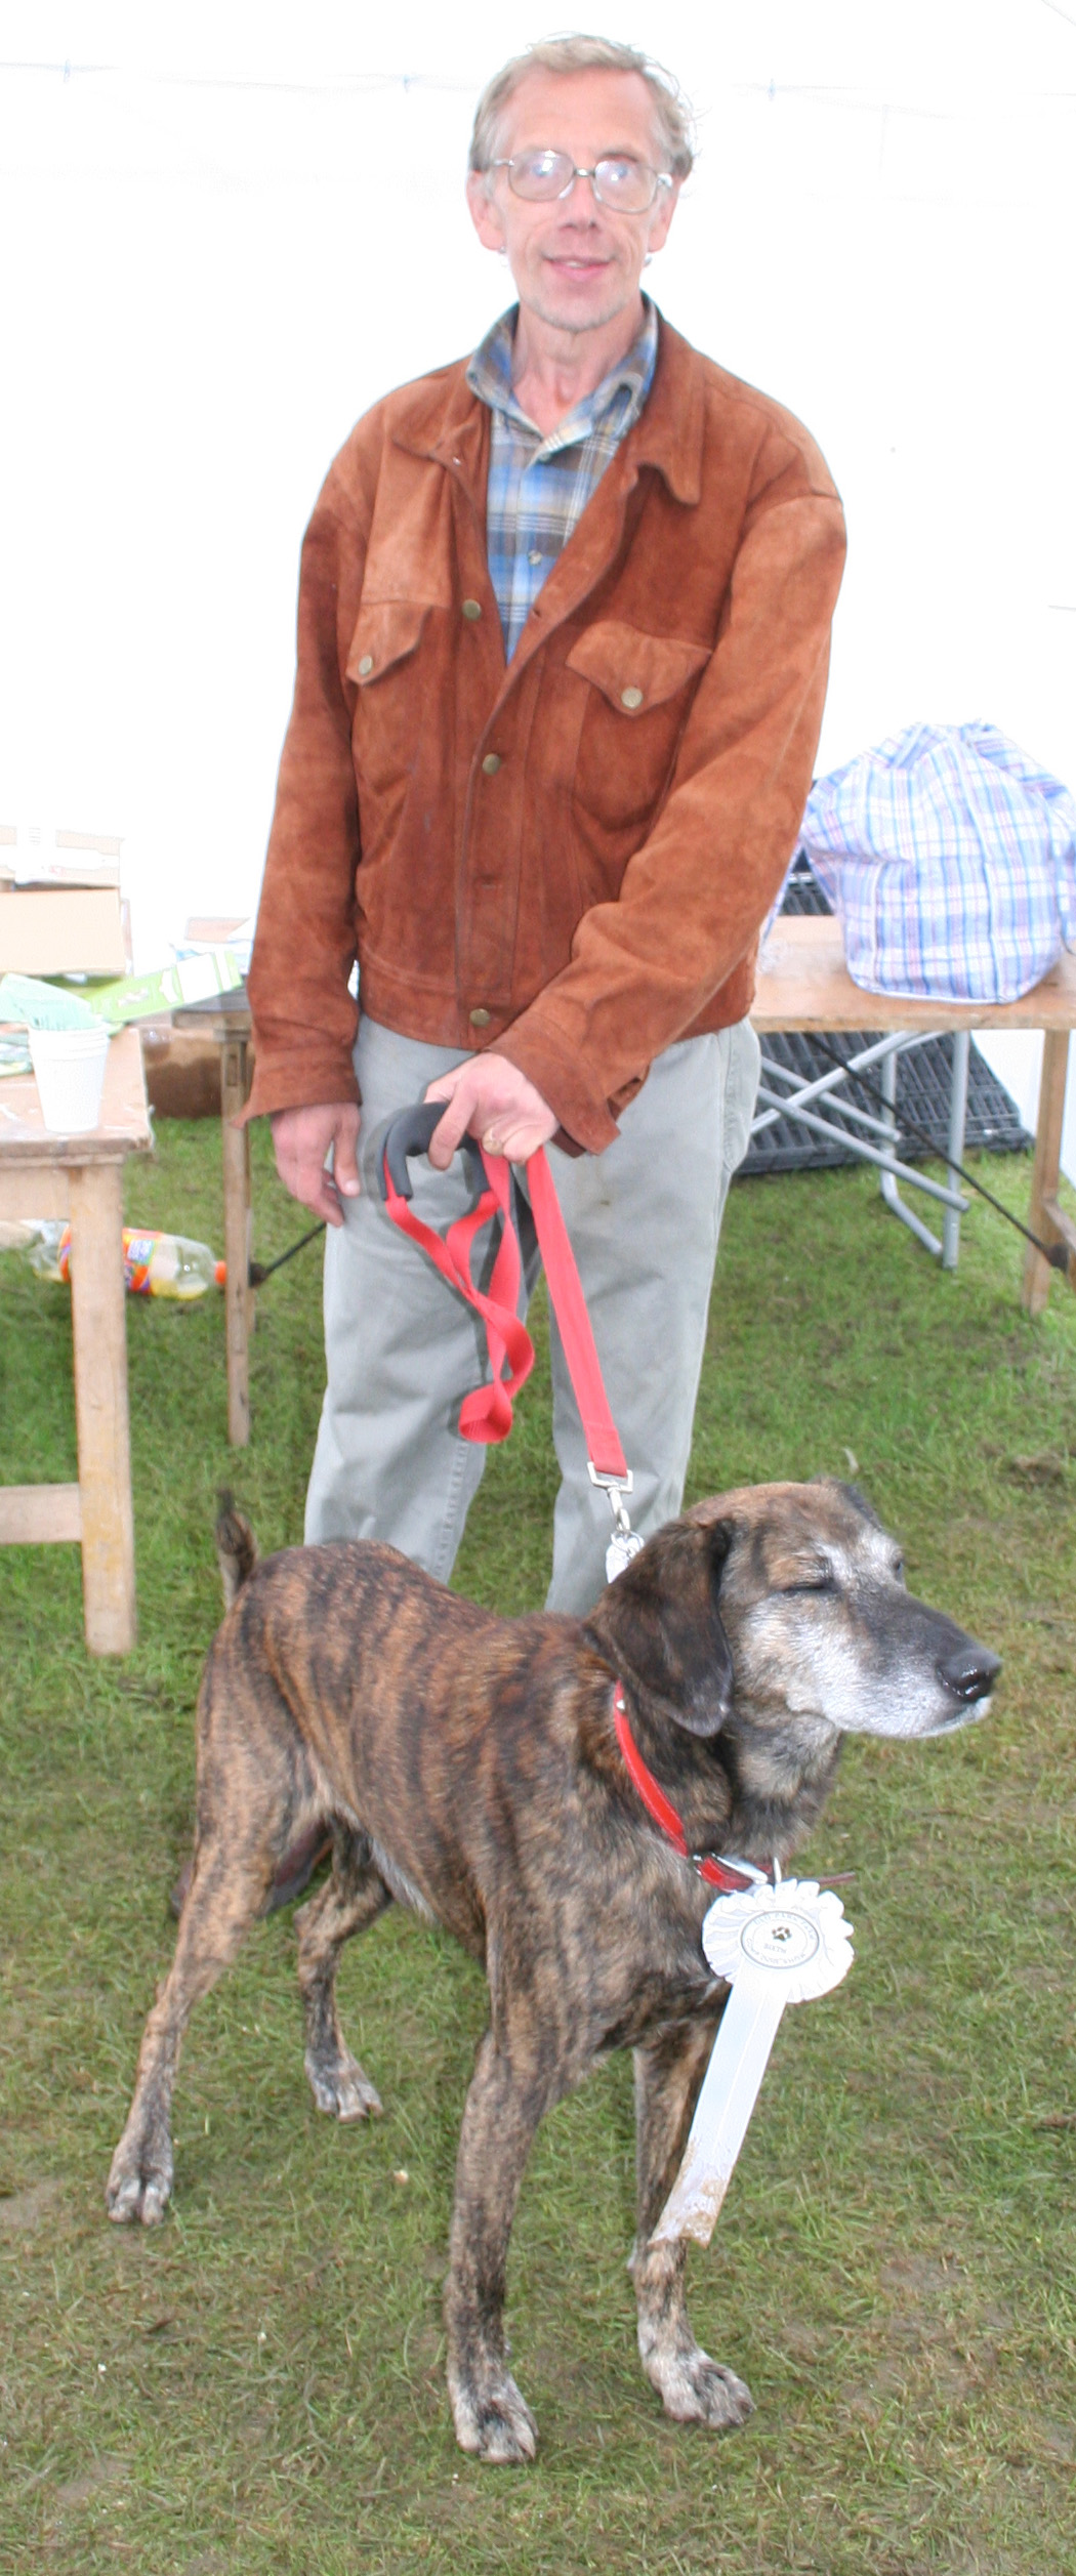
{"type": "MultiPolygon", "coordinates": [[[[651,93],[638,72],[528,72],[510,98],[497,137],[497,157],[566,152],[577,170],[633,155],[651,170],[664,165],[654,131],[651,93]]],[[[507,170],[474,170],[466,196],[479,240],[505,250],[525,312],[556,330],[597,330],[631,307],[649,250],[662,250],[680,183],[659,188],[644,214],[600,206],[589,178],[569,196],[525,204],[512,196],[507,170]]]]}

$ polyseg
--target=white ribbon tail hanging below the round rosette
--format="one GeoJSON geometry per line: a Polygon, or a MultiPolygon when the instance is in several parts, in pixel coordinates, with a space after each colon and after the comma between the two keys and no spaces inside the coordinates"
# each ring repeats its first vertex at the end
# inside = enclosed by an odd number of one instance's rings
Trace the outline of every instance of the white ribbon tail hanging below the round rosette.
{"type": "Polygon", "coordinates": [[[685,2159],[651,2244],[692,2236],[708,2246],[767,2071],[785,1996],[736,1978],[695,2102],[685,2159]]]}

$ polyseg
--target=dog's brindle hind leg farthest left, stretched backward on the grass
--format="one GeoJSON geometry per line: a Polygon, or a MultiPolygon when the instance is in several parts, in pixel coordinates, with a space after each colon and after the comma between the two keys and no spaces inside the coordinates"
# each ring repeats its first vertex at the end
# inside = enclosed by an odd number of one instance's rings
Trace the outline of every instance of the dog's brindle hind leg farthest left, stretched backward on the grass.
{"type": "Polygon", "coordinates": [[[224,1832],[198,1839],[175,1958],[147,2020],[134,2102],[108,2174],[106,2208],[118,2223],[142,2218],[149,2228],[165,2215],[172,2190],[170,2115],[183,2030],[263,1911],[275,1860],[268,1819],[265,1832],[250,1832],[239,1850],[224,1832]]]}

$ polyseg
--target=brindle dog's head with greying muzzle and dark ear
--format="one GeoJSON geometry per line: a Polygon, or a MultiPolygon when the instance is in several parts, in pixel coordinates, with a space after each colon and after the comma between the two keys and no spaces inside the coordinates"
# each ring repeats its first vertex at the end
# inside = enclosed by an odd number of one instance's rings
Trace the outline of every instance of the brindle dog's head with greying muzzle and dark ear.
{"type": "Polygon", "coordinates": [[[695,1736],[937,1736],[983,1716],[999,1656],[914,1600],[852,1486],[739,1486],[641,1548],[589,1618],[602,1654],[695,1736]]]}

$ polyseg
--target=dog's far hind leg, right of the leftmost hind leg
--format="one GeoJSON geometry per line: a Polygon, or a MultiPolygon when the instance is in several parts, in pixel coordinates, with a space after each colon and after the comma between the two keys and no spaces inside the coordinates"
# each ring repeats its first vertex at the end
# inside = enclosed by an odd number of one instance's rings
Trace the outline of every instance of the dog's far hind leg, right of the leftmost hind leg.
{"type": "Polygon", "coordinates": [[[296,1914],[299,1932],[299,1986],[306,2012],[306,2076],[319,2110],[335,2120],[366,2120],[381,2110],[381,2099],[353,2058],[337,2022],[337,1958],[353,1932],[391,1906],[381,1870],[373,1862],[366,1834],[345,1824],[332,1826],[332,1875],[324,1888],[296,1914]]]}

